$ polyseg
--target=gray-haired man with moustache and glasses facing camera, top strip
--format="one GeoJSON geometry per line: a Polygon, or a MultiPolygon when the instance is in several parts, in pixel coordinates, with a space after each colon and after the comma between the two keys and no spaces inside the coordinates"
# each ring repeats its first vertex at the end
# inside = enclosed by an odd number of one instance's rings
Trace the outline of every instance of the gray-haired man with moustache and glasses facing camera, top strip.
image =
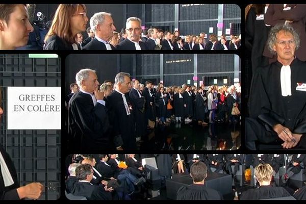
{"type": "Polygon", "coordinates": [[[139,41],[141,37],[141,19],[137,17],[127,18],[125,27],[127,38],[117,45],[117,49],[146,49],[144,42],[139,41]]]}

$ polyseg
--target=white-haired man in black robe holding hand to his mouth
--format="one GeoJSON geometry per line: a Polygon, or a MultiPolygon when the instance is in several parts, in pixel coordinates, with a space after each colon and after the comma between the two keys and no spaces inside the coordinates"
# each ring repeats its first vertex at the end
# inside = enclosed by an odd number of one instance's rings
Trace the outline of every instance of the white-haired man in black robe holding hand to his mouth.
{"type": "Polygon", "coordinates": [[[81,69],[75,75],[80,91],[69,100],[68,149],[83,152],[114,149],[109,138],[109,119],[104,92],[98,90],[95,70],[81,69]],[[71,146],[70,146],[71,145],[71,146]]]}

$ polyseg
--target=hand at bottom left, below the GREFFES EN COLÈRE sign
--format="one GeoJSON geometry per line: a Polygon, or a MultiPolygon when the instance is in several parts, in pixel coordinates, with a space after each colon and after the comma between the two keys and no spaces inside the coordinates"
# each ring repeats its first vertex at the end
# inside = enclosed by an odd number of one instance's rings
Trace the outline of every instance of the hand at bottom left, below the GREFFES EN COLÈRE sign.
{"type": "Polygon", "coordinates": [[[31,183],[20,188],[17,188],[17,193],[20,199],[38,199],[43,192],[43,185],[41,183],[31,183]]]}

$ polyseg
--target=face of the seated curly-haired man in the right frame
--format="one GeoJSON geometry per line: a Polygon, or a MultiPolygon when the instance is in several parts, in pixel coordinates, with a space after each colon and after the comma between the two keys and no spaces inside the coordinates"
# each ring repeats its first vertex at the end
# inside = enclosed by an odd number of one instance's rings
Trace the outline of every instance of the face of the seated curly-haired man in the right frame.
{"type": "Polygon", "coordinates": [[[273,45],[273,50],[277,53],[279,60],[294,59],[295,42],[291,33],[280,31],[276,35],[276,43],[273,45]]]}

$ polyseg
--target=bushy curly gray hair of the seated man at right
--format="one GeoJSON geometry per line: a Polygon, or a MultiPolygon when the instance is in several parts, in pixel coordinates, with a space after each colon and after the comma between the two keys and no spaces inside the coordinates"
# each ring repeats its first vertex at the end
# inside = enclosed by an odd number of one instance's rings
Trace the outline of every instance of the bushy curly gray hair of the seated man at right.
{"type": "Polygon", "coordinates": [[[294,30],[294,28],[291,25],[288,24],[282,24],[278,23],[273,28],[271,28],[271,31],[269,33],[268,37],[268,46],[271,53],[275,54],[276,52],[273,50],[273,46],[276,43],[277,40],[277,33],[284,31],[285,33],[291,33],[293,35],[293,41],[295,43],[295,50],[297,50],[300,46],[300,39],[299,34],[294,30]]]}

